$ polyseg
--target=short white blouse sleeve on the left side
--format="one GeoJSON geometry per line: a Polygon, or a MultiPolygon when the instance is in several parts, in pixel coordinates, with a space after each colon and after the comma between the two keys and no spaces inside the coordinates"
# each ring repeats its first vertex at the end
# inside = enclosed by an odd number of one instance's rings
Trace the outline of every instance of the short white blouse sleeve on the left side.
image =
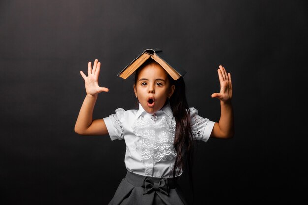
{"type": "Polygon", "coordinates": [[[111,140],[124,139],[123,118],[125,110],[118,108],[115,114],[111,114],[109,117],[104,118],[109,136],[111,140]]]}

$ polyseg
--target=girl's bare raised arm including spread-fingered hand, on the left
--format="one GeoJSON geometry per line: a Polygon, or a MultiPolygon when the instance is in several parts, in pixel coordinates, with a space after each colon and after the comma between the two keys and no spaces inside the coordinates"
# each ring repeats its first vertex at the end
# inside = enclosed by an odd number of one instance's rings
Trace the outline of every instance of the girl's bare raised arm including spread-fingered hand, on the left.
{"type": "Polygon", "coordinates": [[[85,80],[86,97],[80,108],[79,115],[75,124],[75,132],[80,135],[106,135],[107,127],[103,119],[93,120],[93,110],[97,100],[98,93],[108,92],[108,88],[98,86],[98,76],[100,71],[100,62],[96,59],[91,68],[91,62],[88,63],[88,77],[80,71],[85,80]]]}

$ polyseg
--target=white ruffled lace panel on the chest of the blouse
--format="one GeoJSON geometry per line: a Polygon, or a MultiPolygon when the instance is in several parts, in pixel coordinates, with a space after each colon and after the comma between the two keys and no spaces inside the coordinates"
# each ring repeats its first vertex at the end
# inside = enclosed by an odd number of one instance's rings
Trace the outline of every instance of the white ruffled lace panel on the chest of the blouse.
{"type": "Polygon", "coordinates": [[[136,141],[136,151],[142,155],[141,161],[153,159],[159,162],[177,156],[173,145],[175,126],[175,119],[167,115],[161,119],[138,117],[132,128],[134,134],[140,137],[136,141]]]}

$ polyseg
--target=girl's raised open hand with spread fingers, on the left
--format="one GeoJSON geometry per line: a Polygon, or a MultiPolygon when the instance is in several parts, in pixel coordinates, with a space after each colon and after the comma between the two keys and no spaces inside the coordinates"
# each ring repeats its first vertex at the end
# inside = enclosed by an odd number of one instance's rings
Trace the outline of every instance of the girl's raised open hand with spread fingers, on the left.
{"type": "Polygon", "coordinates": [[[98,76],[100,71],[100,62],[95,59],[93,70],[91,68],[91,62],[88,62],[88,77],[80,71],[81,76],[85,80],[86,93],[92,96],[97,96],[100,92],[108,92],[109,89],[105,87],[100,87],[98,85],[98,76]]]}

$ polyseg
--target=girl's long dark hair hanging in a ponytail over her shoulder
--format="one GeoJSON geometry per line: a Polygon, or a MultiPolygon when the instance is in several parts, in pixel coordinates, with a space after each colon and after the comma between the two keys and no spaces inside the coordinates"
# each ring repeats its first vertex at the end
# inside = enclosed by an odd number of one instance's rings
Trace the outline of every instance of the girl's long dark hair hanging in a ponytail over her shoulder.
{"type": "MultiPolygon", "coordinates": [[[[157,63],[153,59],[148,59],[144,64],[137,69],[135,74],[135,84],[138,80],[138,74],[142,68],[151,64],[157,63]]],[[[158,63],[157,63],[158,64],[158,63]]],[[[159,65],[159,64],[158,64],[159,65]]],[[[175,89],[173,95],[170,97],[169,102],[172,109],[173,116],[176,121],[174,148],[177,152],[173,168],[173,176],[176,174],[176,169],[183,169],[188,173],[190,178],[189,183],[193,190],[192,185],[192,165],[193,165],[193,133],[190,126],[190,110],[186,99],[185,83],[182,77],[178,80],[173,80],[168,74],[170,85],[174,85],[175,89]]],[[[168,101],[168,100],[167,100],[168,101]]],[[[166,102],[167,103],[167,102],[166,102]]]]}

